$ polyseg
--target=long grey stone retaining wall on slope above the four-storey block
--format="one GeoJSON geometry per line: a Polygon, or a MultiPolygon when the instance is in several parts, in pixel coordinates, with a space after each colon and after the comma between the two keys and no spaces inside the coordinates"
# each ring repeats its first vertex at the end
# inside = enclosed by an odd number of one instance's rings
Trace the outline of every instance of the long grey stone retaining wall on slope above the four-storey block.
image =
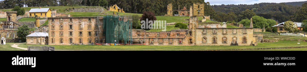
{"type": "Polygon", "coordinates": [[[95,8],[71,8],[72,12],[103,12],[104,9],[101,7],[95,7],[95,8]]]}

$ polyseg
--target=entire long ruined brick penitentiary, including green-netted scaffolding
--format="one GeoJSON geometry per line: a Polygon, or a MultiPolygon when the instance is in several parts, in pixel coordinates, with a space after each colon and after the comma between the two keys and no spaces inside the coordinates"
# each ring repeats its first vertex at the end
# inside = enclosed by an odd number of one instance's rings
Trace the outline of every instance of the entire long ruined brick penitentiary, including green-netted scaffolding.
{"type": "MultiPolygon", "coordinates": [[[[198,25],[190,16],[188,29],[146,32],[132,29],[131,15],[48,18],[50,45],[143,44],[143,45],[257,45],[259,39],[250,28],[198,25]]],[[[260,35],[259,35],[260,36],[260,35]]],[[[262,36],[261,36],[262,37],[262,36]]],[[[261,38],[260,38],[261,39],[261,38]]]]}

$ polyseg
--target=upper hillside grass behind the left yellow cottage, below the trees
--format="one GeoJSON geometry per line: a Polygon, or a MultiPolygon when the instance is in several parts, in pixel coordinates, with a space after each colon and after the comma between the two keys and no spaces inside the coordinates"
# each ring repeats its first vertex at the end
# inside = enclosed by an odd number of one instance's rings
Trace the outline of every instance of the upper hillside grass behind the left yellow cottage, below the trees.
{"type": "MultiPolygon", "coordinates": [[[[67,12],[69,8],[86,8],[86,7],[99,7],[99,6],[43,6],[41,8],[50,8],[51,10],[56,9],[57,13],[64,13],[67,12]]],[[[39,7],[23,7],[23,8],[25,9],[25,11],[29,11],[32,8],[39,8],[39,7]]],[[[0,10],[11,11],[12,9],[0,9],[0,10]]]]}

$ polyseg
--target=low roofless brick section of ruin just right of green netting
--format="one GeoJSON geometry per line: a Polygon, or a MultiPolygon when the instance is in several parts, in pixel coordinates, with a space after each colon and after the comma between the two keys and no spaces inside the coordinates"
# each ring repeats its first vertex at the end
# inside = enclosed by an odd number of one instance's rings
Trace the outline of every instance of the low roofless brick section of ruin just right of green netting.
{"type": "Polygon", "coordinates": [[[146,32],[143,29],[133,29],[132,39],[134,44],[143,43],[146,45],[194,45],[189,44],[188,40],[186,40],[187,31],[188,29],[176,29],[163,32],[146,32]]]}

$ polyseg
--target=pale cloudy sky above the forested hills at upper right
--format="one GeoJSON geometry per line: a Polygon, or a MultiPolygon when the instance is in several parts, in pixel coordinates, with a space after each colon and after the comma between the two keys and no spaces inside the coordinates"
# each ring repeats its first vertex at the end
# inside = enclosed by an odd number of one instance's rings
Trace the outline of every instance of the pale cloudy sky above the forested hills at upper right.
{"type": "Polygon", "coordinates": [[[228,4],[255,4],[255,3],[261,3],[261,2],[274,2],[274,3],[281,3],[281,2],[302,2],[307,0],[205,0],[205,2],[210,2],[210,5],[228,5],[228,4]]]}

